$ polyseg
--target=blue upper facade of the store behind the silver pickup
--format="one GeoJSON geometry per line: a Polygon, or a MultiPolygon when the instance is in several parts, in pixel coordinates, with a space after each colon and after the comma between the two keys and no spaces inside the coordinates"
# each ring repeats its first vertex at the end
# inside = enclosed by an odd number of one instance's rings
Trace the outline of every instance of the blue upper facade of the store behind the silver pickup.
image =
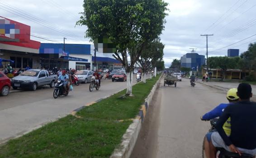
{"type": "MultiPolygon", "coordinates": [[[[63,51],[62,43],[41,43],[40,54],[61,54],[63,51]]],[[[65,44],[65,51],[69,54],[90,55],[90,44],[65,44]]]]}

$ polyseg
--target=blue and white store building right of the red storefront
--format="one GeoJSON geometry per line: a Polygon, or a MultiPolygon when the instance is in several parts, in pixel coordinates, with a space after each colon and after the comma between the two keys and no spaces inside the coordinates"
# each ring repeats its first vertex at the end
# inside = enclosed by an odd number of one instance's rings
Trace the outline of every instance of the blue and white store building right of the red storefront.
{"type": "Polygon", "coordinates": [[[88,44],[41,43],[39,49],[41,65],[58,69],[87,70],[91,66],[90,45],[88,44]]]}

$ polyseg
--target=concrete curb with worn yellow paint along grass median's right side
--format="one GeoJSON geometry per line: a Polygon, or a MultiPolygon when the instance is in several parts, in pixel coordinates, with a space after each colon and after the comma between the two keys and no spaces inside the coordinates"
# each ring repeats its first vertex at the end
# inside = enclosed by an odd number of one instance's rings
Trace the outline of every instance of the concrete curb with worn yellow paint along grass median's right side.
{"type": "Polygon", "coordinates": [[[126,133],[123,135],[123,139],[119,147],[114,149],[114,152],[110,156],[110,158],[129,158],[131,153],[133,152],[133,148],[136,144],[137,137],[142,127],[142,122],[146,116],[146,112],[150,103],[152,102],[152,98],[156,92],[156,89],[159,87],[160,81],[163,77],[163,74],[160,76],[156,84],[153,86],[151,92],[145,99],[144,104],[141,106],[139,111],[139,115],[133,120],[133,123],[128,127],[126,133]]]}

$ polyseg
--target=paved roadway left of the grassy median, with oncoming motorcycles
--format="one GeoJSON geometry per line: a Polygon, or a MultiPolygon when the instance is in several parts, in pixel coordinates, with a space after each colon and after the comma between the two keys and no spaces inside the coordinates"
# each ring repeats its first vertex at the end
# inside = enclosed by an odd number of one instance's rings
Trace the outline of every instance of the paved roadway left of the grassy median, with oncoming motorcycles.
{"type": "MultiPolygon", "coordinates": [[[[136,79],[133,79],[135,83],[136,79]]],[[[85,106],[100,98],[126,88],[126,82],[101,80],[99,91],[89,91],[88,84],[73,85],[74,90],[66,97],[54,99],[53,88],[44,86],[36,91],[10,93],[0,97],[0,143],[22,135],[49,121],[70,114],[74,109],[85,106]]]]}

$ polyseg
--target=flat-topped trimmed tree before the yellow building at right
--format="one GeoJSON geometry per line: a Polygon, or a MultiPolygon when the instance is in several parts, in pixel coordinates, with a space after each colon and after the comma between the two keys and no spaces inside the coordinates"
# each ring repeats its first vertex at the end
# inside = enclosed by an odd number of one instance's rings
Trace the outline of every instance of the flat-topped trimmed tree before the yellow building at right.
{"type": "Polygon", "coordinates": [[[209,67],[211,69],[221,69],[222,80],[225,78],[228,69],[239,69],[240,57],[213,56],[209,57],[209,67]]]}

